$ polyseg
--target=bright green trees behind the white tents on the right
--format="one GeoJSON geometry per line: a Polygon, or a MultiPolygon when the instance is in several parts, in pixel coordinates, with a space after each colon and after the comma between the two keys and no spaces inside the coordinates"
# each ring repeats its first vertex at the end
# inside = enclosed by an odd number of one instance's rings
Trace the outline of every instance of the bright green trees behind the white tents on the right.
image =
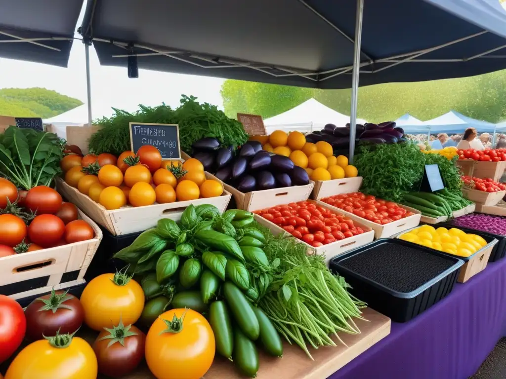
{"type": "MultiPolygon", "coordinates": [[[[367,74],[362,74],[367,75],[367,74]]],[[[313,97],[327,107],[350,114],[350,89],[308,89],[226,80],[222,86],[225,113],[271,117],[313,97]]],[[[410,113],[429,120],[455,110],[479,120],[506,119],[506,70],[468,78],[360,87],[358,117],[371,122],[395,120],[410,113]]]]}

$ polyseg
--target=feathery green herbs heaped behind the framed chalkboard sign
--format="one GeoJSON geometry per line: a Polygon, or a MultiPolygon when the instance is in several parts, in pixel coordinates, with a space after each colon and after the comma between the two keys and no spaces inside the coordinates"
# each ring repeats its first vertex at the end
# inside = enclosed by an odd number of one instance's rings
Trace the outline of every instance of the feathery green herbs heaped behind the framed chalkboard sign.
{"type": "Polygon", "coordinates": [[[129,113],[114,109],[115,114],[96,120],[101,129],[90,138],[90,150],[96,154],[121,154],[130,150],[130,122],[178,124],[181,149],[191,153],[191,145],[203,137],[215,137],[226,146],[244,144],[248,135],[239,121],[228,118],[218,107],[200,104],[197,98],[182,95],[181,105],[173,110],[162,104],[157,107],[139,105],[139,110],[129,113]]]}

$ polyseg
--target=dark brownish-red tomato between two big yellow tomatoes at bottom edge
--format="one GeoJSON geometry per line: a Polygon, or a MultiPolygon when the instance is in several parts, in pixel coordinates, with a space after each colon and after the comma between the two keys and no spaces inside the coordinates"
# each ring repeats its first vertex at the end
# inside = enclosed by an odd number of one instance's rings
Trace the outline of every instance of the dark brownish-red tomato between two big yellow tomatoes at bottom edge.
{"type": "Polygon", "coordinates": [[[97,355],[98,372],[120,377],[135,370],[144,358],[146,335],[133,325],[104,328],[98,335],[93,350],[97,355]]]}

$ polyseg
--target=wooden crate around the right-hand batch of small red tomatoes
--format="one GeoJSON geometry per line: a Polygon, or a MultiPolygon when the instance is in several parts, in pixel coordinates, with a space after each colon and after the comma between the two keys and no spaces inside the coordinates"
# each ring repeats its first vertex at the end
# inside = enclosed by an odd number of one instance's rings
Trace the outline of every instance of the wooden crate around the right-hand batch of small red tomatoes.
{"type": "Polygon", "coordinates": [[[324,203],[320,200],[318,200],[318,205],[326,206],[327,208],[331,209],[334,212],[342,213],[342,214],[350,217],[353,221],[358,221],[358,222],[366,225],[367,227],[371,228],[372,230],[374,230],[374,239],[376,239],[376,240],[380,239],[380,238],[387,238],[392,235],[398,234],[404,230],[408,230],[408,229],[411,229],[415,226],[418,226],[418,224],[420,223],[420,217],[421,217],[421,212],[419,210],[414,209],[414,208],[409,208],[409,207],[399,204],[399,207],[406,209],[408,212],[413,212],[414,215],[409,216],[409,217],[405,217],[405,218],[401,218],[400,220],[397,220],[397,221],[392,221],[392,222],[385,224],[385,225],[379,225],[379,224],[376,224],[375,222],[366,220],[365,218],[362,218],[362,217],[358,217],[358,216],[354,215],[353,213],[346,212],[340,208],[336,208],[336,207],[329,205],[327,203],[324,203]]]}

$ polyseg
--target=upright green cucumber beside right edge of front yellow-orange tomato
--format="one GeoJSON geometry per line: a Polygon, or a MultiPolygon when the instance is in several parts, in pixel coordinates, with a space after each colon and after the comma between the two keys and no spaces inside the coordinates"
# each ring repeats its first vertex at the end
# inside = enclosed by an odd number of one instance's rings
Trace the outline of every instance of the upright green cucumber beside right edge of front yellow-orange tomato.
{"type": "Polygon", "coordinates": [[[232,321],[224,301],[215,301],[209,307],[209,323],[213,328],[216,340],[216,350],[225,358],[232,357],[234,350],[234,335],[232,321]]]}

